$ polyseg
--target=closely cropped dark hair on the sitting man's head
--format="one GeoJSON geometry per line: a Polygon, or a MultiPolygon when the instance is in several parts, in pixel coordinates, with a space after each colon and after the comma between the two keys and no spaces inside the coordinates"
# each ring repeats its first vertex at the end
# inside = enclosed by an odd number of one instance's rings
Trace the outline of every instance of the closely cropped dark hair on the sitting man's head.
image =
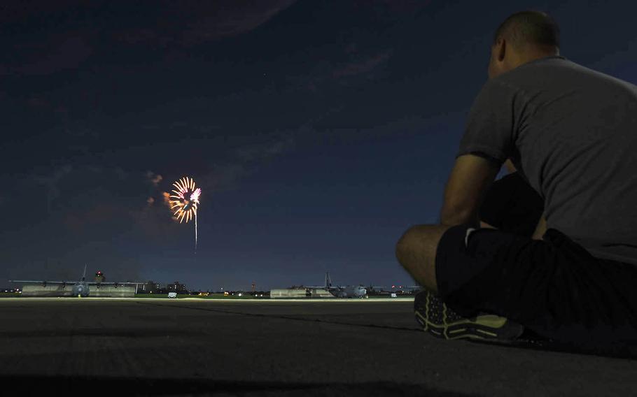
{"type": "Polygon", "coordinates": [[[507,36],[515,48],[539,45],[559,49],[559,26],[542,11],[526,10],[510,15],[496,30],[493,44],[502,36],[507,36]]]}

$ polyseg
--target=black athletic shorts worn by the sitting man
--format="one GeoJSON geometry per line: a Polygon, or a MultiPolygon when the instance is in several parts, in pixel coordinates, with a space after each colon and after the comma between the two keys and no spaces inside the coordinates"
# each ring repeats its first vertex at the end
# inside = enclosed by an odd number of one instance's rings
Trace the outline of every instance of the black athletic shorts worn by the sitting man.
{"type": "Polygon", "coordinates": [[[543,240],[469,225],[448,229],[435,258],[438,293],[458,314],[488,312],[546,338],[637,345],[637,268],[597,259],[560,231],[543,240]]]}

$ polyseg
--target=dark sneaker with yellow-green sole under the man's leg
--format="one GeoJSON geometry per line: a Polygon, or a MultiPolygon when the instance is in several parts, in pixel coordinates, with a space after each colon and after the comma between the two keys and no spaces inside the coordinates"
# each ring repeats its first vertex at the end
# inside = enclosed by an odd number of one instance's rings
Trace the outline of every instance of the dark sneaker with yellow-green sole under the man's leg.
{"type": "Polygon", "coordinates": [[[505,317],[488,314],[461,317],[429,291],[416,295],[414,310],[423,331],[437,338],[514,340],[524,331],[523,326],[505,317]]]}

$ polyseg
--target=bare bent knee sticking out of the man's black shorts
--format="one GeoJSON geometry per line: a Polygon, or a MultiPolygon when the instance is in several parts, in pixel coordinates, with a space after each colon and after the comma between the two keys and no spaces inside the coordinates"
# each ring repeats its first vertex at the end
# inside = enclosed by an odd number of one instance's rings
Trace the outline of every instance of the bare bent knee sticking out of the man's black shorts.
{"type": "Polygon", "coordinates": [[[402,235],[396,245],[396,258],[414,280],[437,292],[435,257],[440,238],[451,226],[416,225],[402,235]]]}

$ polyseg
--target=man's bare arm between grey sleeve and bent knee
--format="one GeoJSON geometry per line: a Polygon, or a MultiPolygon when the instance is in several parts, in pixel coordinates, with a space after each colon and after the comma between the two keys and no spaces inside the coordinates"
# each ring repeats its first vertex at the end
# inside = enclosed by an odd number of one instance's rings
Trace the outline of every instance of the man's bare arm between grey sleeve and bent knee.
{"type": "Polygon", "coordinates": [[[444,188],[440,224],[478,226],[478,210],[498,171],[500,167],[483,157],[474,154],[458,157],[444,188]]]}

